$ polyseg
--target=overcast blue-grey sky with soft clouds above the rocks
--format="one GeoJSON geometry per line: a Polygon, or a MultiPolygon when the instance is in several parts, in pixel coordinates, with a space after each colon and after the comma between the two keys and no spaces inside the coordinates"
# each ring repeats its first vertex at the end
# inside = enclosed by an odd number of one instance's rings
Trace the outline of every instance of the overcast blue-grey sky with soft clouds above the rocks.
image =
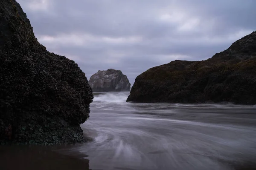
{"type": "Polygon", "coordinates": [[[256,30],[256,0],[17,0],[49,52],[86,77],[119,69],[131,85],[147,69],[201,61],[256,30]]]}

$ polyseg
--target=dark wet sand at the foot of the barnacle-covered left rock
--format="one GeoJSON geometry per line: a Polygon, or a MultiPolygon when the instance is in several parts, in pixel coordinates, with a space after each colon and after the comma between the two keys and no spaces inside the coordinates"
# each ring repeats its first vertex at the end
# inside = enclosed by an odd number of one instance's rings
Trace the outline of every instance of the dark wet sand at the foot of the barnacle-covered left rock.
{"type": "Polygon", "coordinates": [[[86,155],[61,148],[69,146],[0,146],[0,170],[89,170],[86,155]]]}

